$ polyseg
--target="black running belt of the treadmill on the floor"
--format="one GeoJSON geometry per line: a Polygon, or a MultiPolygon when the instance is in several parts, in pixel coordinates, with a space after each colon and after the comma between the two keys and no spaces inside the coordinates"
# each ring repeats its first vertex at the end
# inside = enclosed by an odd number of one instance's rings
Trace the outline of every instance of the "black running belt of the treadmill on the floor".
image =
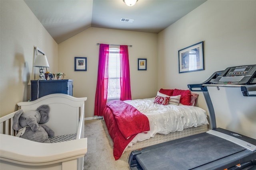
{"type": "Polygon", "coordinates": [[[205,133],[180,143],[144,150],[136,160],[144,170],[189,170],[245,150],[225,139],[205,133]]]}

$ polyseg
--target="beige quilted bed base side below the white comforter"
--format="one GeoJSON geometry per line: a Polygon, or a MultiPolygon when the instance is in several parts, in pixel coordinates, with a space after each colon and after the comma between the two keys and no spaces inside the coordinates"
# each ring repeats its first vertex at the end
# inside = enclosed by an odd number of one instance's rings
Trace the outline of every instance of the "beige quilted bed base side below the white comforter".
{"type": "Polygon", "coordinates": [[[156,145],[158,143],[163,143],[163,142],[167,142],[167,141],[172,141],[174,139],[179,139],[182,137],[187,137],[187,136],[196,135],[199,133],[204,133],[206,131],[208,131],[208,125],[201,125],[198,127],[189,127],[189,128],[184,129],[183,131],[171,132],[167,135],[162,135],[162,134],[156,133],[156,135],[154,137],[152,137],[150,139],[146,139],[141,142],[137,142],[137,143],[133,144],[131,147],[127,147],[124,151],[136,150],[136,149],[148,147],[151,145],[156,145]]]}

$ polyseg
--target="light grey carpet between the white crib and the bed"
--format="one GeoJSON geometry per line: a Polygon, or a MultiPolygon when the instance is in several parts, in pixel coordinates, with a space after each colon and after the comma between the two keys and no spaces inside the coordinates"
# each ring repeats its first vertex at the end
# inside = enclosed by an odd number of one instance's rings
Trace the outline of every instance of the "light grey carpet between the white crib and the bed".
{"type": "Polygon", "coordinates": [[[103,119],[84,121],[84,135],[87,137],[84,170],[130,170],[129,151],[114,159],[113,142],[103,119]]]}

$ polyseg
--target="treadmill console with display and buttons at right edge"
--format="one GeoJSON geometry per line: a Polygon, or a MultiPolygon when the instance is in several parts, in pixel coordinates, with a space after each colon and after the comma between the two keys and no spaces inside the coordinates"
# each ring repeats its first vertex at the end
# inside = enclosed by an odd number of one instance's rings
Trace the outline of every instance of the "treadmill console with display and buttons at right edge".
{"type": "Polygon", "coordinates": [[[214,84],[255,84],[256,64],[226,68],[215,80],[214,84]]]}

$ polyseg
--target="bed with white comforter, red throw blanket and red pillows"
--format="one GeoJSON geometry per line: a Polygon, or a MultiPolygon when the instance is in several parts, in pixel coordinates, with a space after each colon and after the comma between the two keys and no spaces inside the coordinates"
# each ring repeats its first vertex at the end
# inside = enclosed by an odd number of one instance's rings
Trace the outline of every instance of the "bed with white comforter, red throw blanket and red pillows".
{"type": "Polygon", "coordinates": [[[208,130],[206,111],[196,106],[190,90],[160,89],[156,97],[107,102],[103,118],[118,160],[124,151],[208,130]]]}

